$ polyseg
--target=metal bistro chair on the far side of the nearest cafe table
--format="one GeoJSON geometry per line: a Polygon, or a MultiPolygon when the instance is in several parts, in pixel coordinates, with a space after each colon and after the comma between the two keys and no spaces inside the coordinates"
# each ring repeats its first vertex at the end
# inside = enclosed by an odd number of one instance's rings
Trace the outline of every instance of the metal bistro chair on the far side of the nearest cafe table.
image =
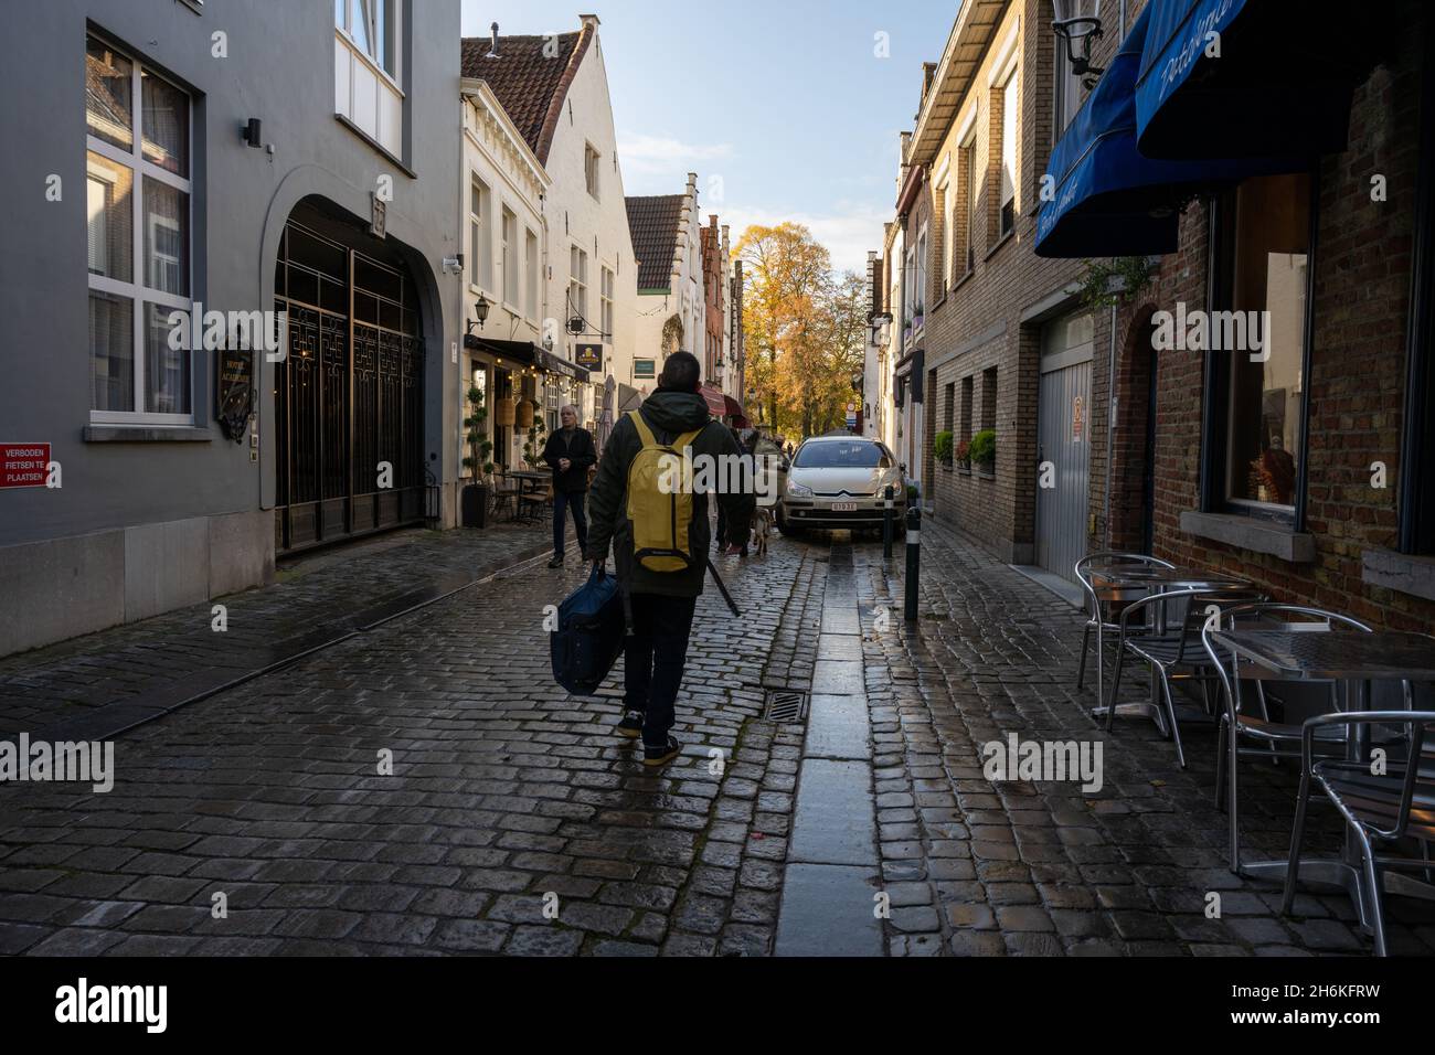
{"type": "MultiPolygon", "coordinates": [[[[1230,657],[1227,663],[1215,652],[1211,634],[1218,630],[1287,630],[1292,633],[1342,633],[1336,627],[1353,633],[1370,633],[1370,627],[1349,616],[1322,609],[1307,609],[1300,604],[1247,604],[1238,609],[1228,609],[1221,613],[1220,620],[1213,626],[1207,623],[1201,630],[1201,644],[1210,657],[1215,673],[1221,682],[1224,709],[1220,721],[1220,735],[1217,738],[1215,754],[1215,808],[1225,808],[1230,814],[1231,827],[1231,871],[1241,868],[1240,857],[1240,817],[1237,800],[1237,777],[1241,755],[1254,755],[1279,764],[1281,758],[1300,758],[1302,728],[1296,723],[1274,722],[1270,716],[1270,705],[1266,699],[1266,682],[1283,680],[1264,667],[1254,663],[1240,665],[1230,657]],[[1241,696],[1241,682],[1256,683],[1256,703],[1258,713],[1246,708],[1241,696]],[[1246,741],[1247,746],[1241,746],[1246,741]]],[[[1337,682],[1309,682],[1310,685],[1326,685],[1330,689],[1330,705],[1339,709],[1337,682]]],[[[1317,742],[1332,754],[1345,751],[1343,731],[1329,728],[1317,733],[1317,742]]]]}

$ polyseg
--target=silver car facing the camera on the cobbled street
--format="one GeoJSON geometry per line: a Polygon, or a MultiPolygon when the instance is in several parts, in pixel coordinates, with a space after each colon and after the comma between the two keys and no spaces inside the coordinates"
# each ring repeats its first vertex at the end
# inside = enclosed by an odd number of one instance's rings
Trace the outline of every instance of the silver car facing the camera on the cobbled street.
{"type": "Polygon", "coordinates": [[[809,439],[792,456],[778,502],[778,530],[794,535],[805,528],[881,528],[888,487],[900,525],[907,515],[903,477],[904,466],[877,441],[809,439]]]}

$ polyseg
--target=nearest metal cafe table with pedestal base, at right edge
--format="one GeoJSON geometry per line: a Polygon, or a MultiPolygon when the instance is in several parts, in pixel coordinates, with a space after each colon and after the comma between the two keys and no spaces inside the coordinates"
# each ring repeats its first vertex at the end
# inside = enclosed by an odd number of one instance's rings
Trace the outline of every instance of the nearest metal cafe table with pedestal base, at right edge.
{"type": "MultiPolygon", "coordinates": [[[[1375,633],[1221,630],[1213,633],[1211,640],[1274,675],[1276,680],[1359,682],[1360,711],[1368,709],[1370,682],[1435,683],[1435,637],[1425,634],[1395,630],[1375,633]]],[[[1363,726],[1360,732],[1365,733],[1368,729],[1369,726],[1363,726]]],[[[1346,735],[1349,761],[1360,761],[1365,749],[1365,735],[1346,735]]],[[[1289,861],[1234,864],[1246,876],[1277,881],[1284,881],[1290,867],[1289,861]]],[[[1369,929],[1370,891],[1366,890],[1365,870],[1360,866],[1360,845],[1347,825],[1340,860],[1302,857],[1300,880],[1343,887],[1360,913],[1360,926],[1369,929]]],[[[1409,897],[1435,900],[1435,887],[1398,873],[1385,874],[1385,888],[1409,897]]]]}

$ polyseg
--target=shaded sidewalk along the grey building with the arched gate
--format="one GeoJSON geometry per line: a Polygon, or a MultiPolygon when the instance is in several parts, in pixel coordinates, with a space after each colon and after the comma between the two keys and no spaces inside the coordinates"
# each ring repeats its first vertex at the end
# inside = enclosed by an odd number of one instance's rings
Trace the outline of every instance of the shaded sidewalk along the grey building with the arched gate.
{"type": "Polygon", "coordinates": [[[276,581],[0,659],[0,738],[102,739],[515,561],[545,527],[396,531],[280,561],[276,581]],[[212,629],[224,604],[228,627],[212,629]]]}

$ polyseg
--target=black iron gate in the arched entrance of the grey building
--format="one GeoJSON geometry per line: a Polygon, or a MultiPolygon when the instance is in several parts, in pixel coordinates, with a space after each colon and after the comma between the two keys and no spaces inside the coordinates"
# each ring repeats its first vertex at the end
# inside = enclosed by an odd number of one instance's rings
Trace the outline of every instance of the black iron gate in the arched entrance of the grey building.
{"type": "Polygon", "coordinates": [[[290,222],[274,276],[288,356],[274,370],[283,551],[425,520],[423,343],[413,283],[290,222]]]}

